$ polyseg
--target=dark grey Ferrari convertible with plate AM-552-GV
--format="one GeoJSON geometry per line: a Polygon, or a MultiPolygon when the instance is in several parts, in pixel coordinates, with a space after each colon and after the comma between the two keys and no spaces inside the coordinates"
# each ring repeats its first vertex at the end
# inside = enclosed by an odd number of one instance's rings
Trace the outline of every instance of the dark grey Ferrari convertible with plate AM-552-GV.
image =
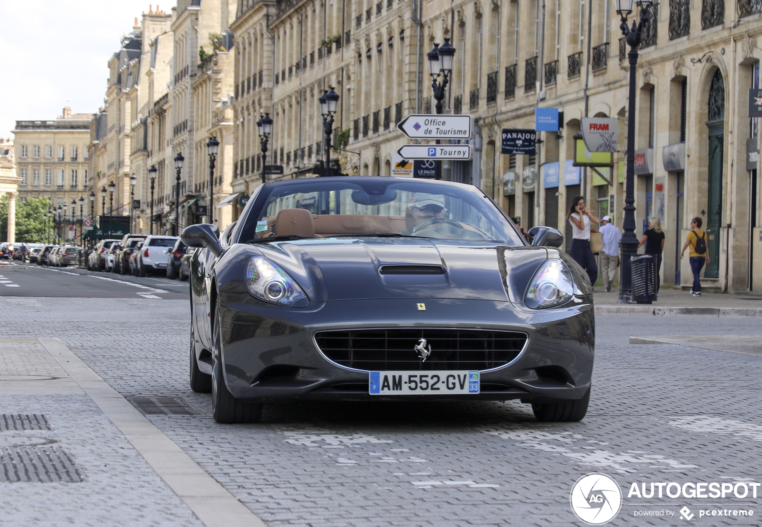
{"type": "Polygon", "coordinates": [[[506,401],[538,420],[588,410],[587,274],[552,228],[528,244],[476,187],[405,177],[264,184],[238,222],[182,232],[191,388],[218,423],[262,404],[506,401]]]}

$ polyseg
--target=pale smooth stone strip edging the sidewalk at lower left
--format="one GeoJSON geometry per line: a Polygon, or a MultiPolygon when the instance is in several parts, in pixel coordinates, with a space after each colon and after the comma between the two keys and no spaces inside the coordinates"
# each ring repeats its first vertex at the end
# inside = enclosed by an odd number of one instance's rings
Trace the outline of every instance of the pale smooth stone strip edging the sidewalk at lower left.
{"type": "Polygon", "coordinates": [[[69,377],[98,404],[171,490],[207,527],[265,527],[254,513],[207,474],[129,401],[54,338],[40,338],[69,377]]]}

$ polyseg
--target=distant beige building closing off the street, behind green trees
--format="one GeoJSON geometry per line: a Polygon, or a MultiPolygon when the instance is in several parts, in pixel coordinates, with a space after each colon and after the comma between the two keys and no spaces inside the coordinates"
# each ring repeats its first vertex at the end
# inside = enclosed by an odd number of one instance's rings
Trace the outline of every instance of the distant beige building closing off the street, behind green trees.
{"type": "Polygon", "coordinates": [[[64,233],[66,239],[70,225],[75,225],[79,233],[81,197],[86,202],[83,203],[83,215],[87,217],[90,212],[87,199],[88,185],[91,184],[88,144],[92,120],[92,113],[72,113],[71,108],[64,107],[56,119],[16,121],[13,130],[18,200],[49,198],[56,207],[56,235],[64,233]]]}

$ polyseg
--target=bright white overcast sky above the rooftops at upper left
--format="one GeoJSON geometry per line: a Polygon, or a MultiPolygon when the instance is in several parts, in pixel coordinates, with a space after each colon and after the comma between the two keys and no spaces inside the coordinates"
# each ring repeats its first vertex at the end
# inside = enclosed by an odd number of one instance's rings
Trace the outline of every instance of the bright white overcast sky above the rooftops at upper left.
{"type": "Polygon", "coordinates": [[[17,120],[54,119],[67,104],[72,113],[97,111],[108,58],[149,2],[0,0],[0,136],[12,136],[17,120]]]}

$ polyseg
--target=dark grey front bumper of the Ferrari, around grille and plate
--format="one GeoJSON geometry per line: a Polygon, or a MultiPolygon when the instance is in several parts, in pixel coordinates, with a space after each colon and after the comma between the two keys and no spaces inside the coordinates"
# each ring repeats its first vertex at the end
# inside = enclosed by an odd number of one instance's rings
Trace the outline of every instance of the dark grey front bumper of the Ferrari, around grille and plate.
{"type": "MultiPolygon", "coordinates": [[[[578,399],[590,387],[594,315],[589,297],[568,307],[532,310],[510,302],[456,299],[373,299],[280,308],[251,295],[220,292],[223,371],[236,398],[255,401],[578,399]],[[426,311],[418,311],[424,302],[426,311]],[[506,366],[482,372],[482,391],[469,395],[368,393],[368,373],[339,366],[318,349],[316,331],[374,327],[448,327],[521,331],[523,351],[506,366]],[[557,368],[548,368],[557,366],[557,368]],[[537,370],[539,369],[539,370],[537,370]],[[548,376],[549,370],[565,372],[548,376]],[[538,371],[542,372],[538,375],[538,371]]],[[[411,350],[412,351],[412,350],[411,350]]],[[[209,353],[200,367],[210,372],[209,353]]]]}

